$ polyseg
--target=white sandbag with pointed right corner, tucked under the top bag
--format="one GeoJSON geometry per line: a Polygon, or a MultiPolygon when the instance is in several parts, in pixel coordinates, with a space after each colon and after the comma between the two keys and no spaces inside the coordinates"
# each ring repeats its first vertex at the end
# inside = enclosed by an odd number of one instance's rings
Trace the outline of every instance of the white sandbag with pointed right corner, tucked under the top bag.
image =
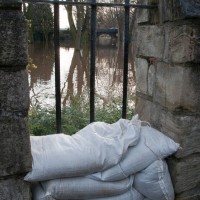
{"type": "Polygon", "coordinates": [[[116,181],[135,174],[157,159],[163,159],[179,148],[179,144],[149,126],[141,127],[140,141],[136,146],[128,148],[118,165],[89,177],[103,181],[116,181]]]}

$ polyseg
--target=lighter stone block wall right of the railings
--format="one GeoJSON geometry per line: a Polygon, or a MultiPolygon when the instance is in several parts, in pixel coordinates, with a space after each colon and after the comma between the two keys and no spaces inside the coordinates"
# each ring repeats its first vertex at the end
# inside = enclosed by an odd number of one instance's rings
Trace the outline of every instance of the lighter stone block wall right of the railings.
{"type": "Polygon", "coordinates": [[[168,159],[177,200],[200,199],[200,0],[142,0],[136,112],[182,149],[168,159]]]}

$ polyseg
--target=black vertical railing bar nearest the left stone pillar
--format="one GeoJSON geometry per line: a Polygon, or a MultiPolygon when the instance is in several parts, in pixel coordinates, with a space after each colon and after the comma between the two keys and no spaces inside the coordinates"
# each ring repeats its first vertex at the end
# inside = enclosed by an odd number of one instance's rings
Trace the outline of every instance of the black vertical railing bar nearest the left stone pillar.
{"type": "Polygon", "coordinates": [[[61,94],[60,94],[60,44],[59,44],[59,4],[54,4],[54,50],[55,50],[55,96],[56,129],[61,133],[61,94]]]}

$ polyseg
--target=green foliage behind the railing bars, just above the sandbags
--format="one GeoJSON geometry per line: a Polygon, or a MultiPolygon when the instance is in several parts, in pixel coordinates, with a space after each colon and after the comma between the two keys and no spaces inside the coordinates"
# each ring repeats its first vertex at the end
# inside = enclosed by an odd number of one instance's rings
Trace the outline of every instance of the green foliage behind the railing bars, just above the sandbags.
{"type": "MultiPolygon", "coordinates": [[[[114,99],[108,105],[100,105],[96,100],[95,121],[114,123],[121,118],[121,99],[114,99]]],[[[74,98],[70,106],[62,110],[63,133],[72,135],[89,124],[89,104],[81,98],[74,98]]],[[[131,119],[134,110],[127,108],[127,119],[131,119]]],[[[55,108],[32,108],[29,112],[29,130],[31,135],[56,133],[55,108]]]]}

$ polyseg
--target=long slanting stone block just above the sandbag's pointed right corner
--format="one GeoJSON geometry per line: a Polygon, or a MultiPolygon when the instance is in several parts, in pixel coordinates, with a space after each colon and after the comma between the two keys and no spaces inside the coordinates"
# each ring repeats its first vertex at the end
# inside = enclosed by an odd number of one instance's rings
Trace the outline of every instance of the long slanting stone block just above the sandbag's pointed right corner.
{"type": "Polygon", "coordinates": [[[181,145],[176,158],[200,154],[200,117],[173,113],[137,93],[136,113],[181,145]]]}

